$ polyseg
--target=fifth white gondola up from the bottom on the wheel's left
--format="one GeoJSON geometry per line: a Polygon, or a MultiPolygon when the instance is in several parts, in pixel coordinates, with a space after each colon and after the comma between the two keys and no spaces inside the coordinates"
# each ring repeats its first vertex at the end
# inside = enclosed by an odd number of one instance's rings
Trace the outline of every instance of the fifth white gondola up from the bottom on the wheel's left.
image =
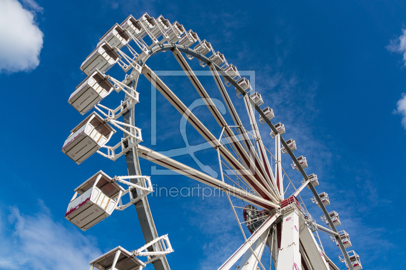
{"type": "Polygon", "coordinates": [[[86,60],[80,66],[80,70],[87,76],[95,72],[96,69],[105,73],[118,60],[120,60],[118,53],[108,43],[103,42],[86,57],[86,60]]]}

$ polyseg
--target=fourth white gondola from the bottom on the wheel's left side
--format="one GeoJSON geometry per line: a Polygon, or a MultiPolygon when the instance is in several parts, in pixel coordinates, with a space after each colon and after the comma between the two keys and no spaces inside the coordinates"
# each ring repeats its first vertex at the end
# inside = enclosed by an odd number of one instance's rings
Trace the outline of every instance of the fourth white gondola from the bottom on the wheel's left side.
{"type": "Polygon", "coordinates": [[[107,80],[106,75],[96,70],[76,87],[67,102],[84,115],[113,90],[113,84],[107,80]]]}

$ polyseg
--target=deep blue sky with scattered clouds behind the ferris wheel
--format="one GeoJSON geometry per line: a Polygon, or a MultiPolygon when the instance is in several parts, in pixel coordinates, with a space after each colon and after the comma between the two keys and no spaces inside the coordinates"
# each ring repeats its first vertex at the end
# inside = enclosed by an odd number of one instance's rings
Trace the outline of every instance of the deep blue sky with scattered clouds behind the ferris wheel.
{"type": "MultiPolygon", "coordinates": [[[[274,109],[273,122],[285,124],[284,138],[296,141],[296,156],[307,157],[306,172],[318,175],[316,189],[329,194],[327,209],[340,214],[342,225],[337,229],[350,234],[349,250],[361,256],[364,269],[392,269],[404,263],[404,2],[0,0],[0,7],[0,242],[5,243],[0,247],[0,269],[85,269],[90,260],[116,246],[133,250],[145,244],[133,207],[114,212],[86,232],[63,218],[77,186],[99,170],[125,175],[126,167],[123,158],[113,162],[99,155],[77,165],[60,151],[69,131],[83,119],[67,103],[85,79],[79,66],[114,23],[144,12],[177,20],[211,42],[240,71],[254,71],[263,108],[274,109]]],[[[197,61],[189,63],[203,70],[197,61]]],[[[170,52],[151,57],[147,64],[154,71],[180,70],[170,52]]],[[[118,67],[109,73],[117,79],[123,76],[118,67]]],[[[162,79],[186,105],[197,98],[186,78],[162,79]]],[[[221,100],[212,78],[199,79],[221,100]]],[[[142,145],[157,151],[185,147],[181,115],[159,92],[157,142],[151,145],[151,85],[142,78],[137,90],[142,145]]],[[[234,89],[228,91],[248,127],[243,101],[234,89]]],[[[121,95],[112,93],[103,104],[117,106],[121,95]]],[[[207,108],[193,112],[220,134],[207,108]]],[[[224,117],[231,123],[228,113],[224,117]]],[[[265,146],[274,152],[269,128],[260,129],[265,146]]],[[[186,132],[190,145],[204,143],[189,124],[186,132]]],[[[111,145],[120,136],[117,133],[111,145]]],[[[219,172],[213,149],[195,155],[219,172]]],[[[189,155],[175,159],[198,168],[189,155]]],[[[283,167],[299,186],[301,177],[290,163],[284,156],[283,167]]],[[[151,175],[154,164],[141,160],[141,165],[143,174],[151,175]]],[[[151,180],[168,188],[197,185],[179,175],[152,175],[151,180]]],[[[311,197],[303,190],[304,203],[319,221],[322,212],[311,204],[311,197]]],[[[158,233],[168,233],[175,249],[167,256],[173,269],[217,269],[244,241],[226,197],[154,194],[149,203],[158,233]]],[[[327,235],[320,237],[327,255],[344,269],[337,261],[339,250],[327,235]]]]}

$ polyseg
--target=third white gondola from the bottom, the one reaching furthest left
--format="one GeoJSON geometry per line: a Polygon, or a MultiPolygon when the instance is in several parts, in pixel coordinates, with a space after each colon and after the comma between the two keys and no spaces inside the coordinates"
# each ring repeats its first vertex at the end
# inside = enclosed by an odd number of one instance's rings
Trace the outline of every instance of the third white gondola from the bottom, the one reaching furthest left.
{"type": "Polygon", "coordinates": [[[93,112],[71,132],[63,144],[62,152],[80,164],[103,147],[116,130],[93,112]]]}

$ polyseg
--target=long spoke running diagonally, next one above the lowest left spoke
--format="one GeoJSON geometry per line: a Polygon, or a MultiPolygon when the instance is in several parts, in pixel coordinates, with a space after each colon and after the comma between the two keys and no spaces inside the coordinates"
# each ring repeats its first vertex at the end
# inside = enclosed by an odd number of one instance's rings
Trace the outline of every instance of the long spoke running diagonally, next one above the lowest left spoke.
{"type": "Polygon", "coordinates": [[[146,65],[143,65],[143,75],[158,89],[159,92],[177,109],[183,117],[196,129],[201,136],[215,149],[220,150],[220,155],[235,170],[242,179],[261,197],[278,201],[277,197],[272,195],[250,172],[247,171],[229,151],[227,151],[217,140],[210,130],[203,125],[200,120],[182,103],[178,96],[171,91],[162,80],[146,65]]]}

